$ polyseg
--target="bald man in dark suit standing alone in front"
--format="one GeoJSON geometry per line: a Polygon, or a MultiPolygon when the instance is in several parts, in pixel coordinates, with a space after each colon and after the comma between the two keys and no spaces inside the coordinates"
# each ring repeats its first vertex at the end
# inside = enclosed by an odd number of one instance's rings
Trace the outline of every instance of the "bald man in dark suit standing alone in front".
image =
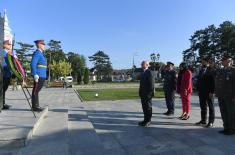
{"type": "Polygon", "coordinates": [[[152,118],[152,97],[154,96],[154,76],[148,68],[148,61],[141,64],[143,72],[140,78],[139,96],[141,98],[144,120],[139,122],[140,126],[148,127],[152,118]]]}

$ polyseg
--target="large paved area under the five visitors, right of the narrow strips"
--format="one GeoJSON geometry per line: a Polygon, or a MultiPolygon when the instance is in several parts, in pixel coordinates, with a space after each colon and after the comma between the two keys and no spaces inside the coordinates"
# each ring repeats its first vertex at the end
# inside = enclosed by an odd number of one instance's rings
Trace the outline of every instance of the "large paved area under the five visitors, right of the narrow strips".
{"type": "Polygon", "coordinates": [[[179,99],[175,116],[164,116],[164,100],[154,100],[150,128],[138,127],[143,115],[139,100],[88,102],[86,112],[102,144],[110,154],[234,154],[235,137],[218,133],[222,129],[216,104],[215,127],[195,126],[200,120],[197,97],[192,98],[191,118],[178,120],[181,114],[179,99]]]}

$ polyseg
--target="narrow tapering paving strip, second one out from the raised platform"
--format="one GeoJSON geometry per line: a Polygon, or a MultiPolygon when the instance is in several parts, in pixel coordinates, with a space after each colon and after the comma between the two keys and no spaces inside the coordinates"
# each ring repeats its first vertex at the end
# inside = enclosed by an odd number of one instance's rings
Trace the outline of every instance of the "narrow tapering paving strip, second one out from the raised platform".
{"type": "Polygon", "coordinates": [[[84,106],[70,105],[68,129],[69,154],[105,154],[102,142],[90,122],[84,106]]]}

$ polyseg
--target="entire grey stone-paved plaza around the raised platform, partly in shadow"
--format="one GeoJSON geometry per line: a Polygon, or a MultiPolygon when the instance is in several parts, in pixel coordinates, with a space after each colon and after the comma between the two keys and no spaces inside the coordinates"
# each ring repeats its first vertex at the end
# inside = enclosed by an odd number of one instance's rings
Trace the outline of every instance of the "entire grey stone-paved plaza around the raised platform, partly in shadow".
{"type": "MultiPolygon", "coordinates": [[[[21,91],[9,90],[7,98],[20,98],[21,95],[21,91]]],[[[80,102],[73,89],[61,88],[43,89],[40,97],[41,104],[48,105],[49,112],[28,145],[1,149],[0,154],[235,154],[235,136],[218,133],[222,121],[217,102],[215,127],[206,129],[194,125],[200,119],[196,96],[192,97],[188,121],[177,119],[181,114],[179,98],[175,116],[170,117],[162,114],[166,109],[164,100],[154,99],[152,125],[143,128],[137,126],[143,119],[139,100],[80,102]]],[[[8,101],[12,109],[19,102],[25,101],[8,101]]]]}

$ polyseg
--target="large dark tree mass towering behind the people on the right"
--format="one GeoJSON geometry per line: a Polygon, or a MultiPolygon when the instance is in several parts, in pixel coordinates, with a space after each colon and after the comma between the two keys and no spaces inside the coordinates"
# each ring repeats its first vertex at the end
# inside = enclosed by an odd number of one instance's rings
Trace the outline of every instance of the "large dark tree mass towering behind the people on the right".
{"type": "Polygon", "coordinates": [[[235,25],[229,21],[223,22],[218,28],[209,25],[196,31],[190,42],[190,48],[183,51],[183,60],[191,67],[197,67],[202,57],[208,57],[219,65],[223,54],[235,58],[235,25]]]}

